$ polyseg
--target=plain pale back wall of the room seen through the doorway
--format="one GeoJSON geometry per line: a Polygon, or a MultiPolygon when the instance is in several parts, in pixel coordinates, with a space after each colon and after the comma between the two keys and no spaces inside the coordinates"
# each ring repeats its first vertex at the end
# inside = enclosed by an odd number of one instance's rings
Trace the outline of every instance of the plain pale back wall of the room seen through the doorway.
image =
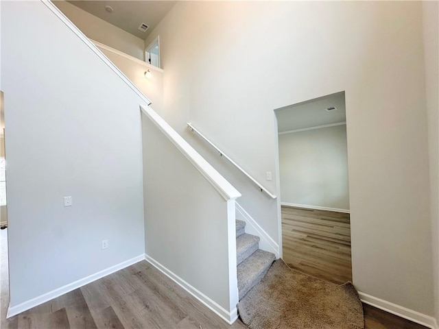
{"type": "Polygon", "coordinates": [[[278,138],[281,202],[348,210],[346,125],[278,138]]]}

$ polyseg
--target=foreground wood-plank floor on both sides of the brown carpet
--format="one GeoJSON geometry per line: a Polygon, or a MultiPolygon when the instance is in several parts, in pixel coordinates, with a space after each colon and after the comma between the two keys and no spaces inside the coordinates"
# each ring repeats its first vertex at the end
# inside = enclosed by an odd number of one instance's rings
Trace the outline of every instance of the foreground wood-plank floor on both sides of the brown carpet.
{"type": "MultiPolygon", "coordinates": [[[[6,319],[9,293],[5,233],[0,231],[2,329],[247,328],[239,319],[229,326],[146,261],[6,319]]],[[[364,305],[364,313],[366,329],[425,329],[372,306],[364,305]]]]}

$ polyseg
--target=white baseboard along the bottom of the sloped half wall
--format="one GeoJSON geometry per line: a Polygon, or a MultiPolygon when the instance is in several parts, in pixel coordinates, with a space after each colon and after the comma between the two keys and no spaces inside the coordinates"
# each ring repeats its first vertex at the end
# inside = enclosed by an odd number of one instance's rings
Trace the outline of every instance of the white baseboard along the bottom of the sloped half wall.
{"type": "Polygon", "coordinates": [[[218,305],[216,302],[204,295],[204,293],[202,293],[198,289],[192,287],[191,284],[187,283],[185,280],[177,276],[176,273],[161,265],[161,263],[158,263],[158,261],[151,256],[145,254],[145,260],[147,260],[148,263],[156,267],[156,269],[161,271],[163,274],[165,274],[165,276],[176,282],[176,284],[185,289],[185,291],[193,295],[193,297],[202,302],[206,307],[211,309],[215,314],[221,317],[228,324],[233,324],[233,322],[235,322],[238,318],[238,311],[236,307],[229,313],[228,310],[218,305]]]}

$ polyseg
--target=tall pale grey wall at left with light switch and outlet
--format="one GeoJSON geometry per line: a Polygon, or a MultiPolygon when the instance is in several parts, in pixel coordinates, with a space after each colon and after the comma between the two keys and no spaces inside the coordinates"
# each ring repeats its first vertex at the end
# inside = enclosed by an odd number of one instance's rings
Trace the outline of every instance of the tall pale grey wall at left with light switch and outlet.
{"type": "Polygon", "coordinates": [[[141,99],[43,2],[1,5],[13,307],[143,255],[141,99]]]}

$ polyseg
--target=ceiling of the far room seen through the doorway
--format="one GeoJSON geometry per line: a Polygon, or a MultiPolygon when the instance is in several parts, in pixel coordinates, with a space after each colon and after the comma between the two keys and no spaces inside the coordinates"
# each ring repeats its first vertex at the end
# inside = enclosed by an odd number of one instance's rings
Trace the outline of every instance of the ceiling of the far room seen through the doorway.
{"type": "Polygon", "coordinates": [[[286,106],[276,110],[276,117],[278,132],[289,132],[346,121],[344,92],[286,106]],[[331,106],[335,106],[337,110],[328,112],[326,108],[331,106]]]}

